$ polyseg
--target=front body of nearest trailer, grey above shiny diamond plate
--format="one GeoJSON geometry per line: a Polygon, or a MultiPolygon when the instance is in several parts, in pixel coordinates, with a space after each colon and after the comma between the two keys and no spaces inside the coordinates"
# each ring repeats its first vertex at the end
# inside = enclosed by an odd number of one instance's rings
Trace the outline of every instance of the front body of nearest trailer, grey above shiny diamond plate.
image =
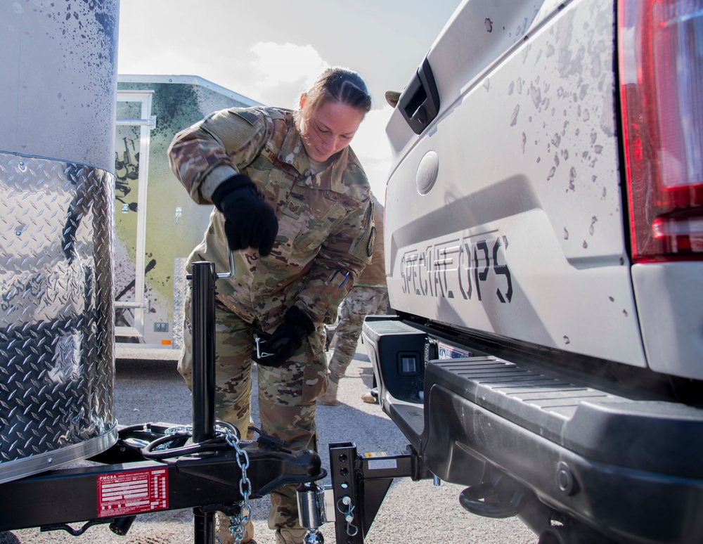
{"type": "Polygon", "coordinates": [[[0,15],[0,483],[117,439],[118,9],[74,7],[5,3],[0,15]]]}

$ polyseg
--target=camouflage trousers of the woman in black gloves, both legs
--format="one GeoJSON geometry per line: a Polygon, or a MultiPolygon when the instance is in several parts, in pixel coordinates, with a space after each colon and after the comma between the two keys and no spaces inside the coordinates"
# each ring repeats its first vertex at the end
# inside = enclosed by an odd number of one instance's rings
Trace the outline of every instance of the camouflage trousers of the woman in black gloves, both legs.
{"type": "MultiPolygon", "coordinates": [[[[183,349],[178,370],[188,388],[192,382],[191,298],[186,297],[183,349]]],[[[218,420],[231,422],[242,438],[251,440],[254,425],[251,410],[252,351],[258,323],[247,323],[225,306],[215,307],[215,411],[218,420]]],[[[267,331],[272,332],[272,331],[267,331]]],[[[326,358],[322,328],[307,337],[287,365],[270,368],[257,365],[257,393],[261,429],[283,440],[292,450],[317,451],[316,399],[327,390],[326,358]]],[[[271,493],[269,527],[299,529],[297,485],[271,493]]]]}

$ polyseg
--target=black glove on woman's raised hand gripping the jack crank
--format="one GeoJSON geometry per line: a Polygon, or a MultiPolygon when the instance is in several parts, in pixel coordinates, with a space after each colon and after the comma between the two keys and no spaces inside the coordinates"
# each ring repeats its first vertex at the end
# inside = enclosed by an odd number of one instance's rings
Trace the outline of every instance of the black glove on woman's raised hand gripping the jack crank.
{"type": "Polygon", "coordinates": [[[278,234],[278,219],[249,176],[236,174],[217,186],[212,203],[224,214],[224,233],[231,250],[254,247],[262,256],[271,253],[278,234]]]}

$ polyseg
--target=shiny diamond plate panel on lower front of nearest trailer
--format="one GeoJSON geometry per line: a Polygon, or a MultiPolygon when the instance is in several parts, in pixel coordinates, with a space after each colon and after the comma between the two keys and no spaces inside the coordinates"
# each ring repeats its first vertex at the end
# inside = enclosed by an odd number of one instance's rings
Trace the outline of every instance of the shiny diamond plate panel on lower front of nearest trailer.
{"type": "Polygon", "coordinates": [[[96,167],[0,153],[0,482],[117,439],[114,183],[96,167]]]}

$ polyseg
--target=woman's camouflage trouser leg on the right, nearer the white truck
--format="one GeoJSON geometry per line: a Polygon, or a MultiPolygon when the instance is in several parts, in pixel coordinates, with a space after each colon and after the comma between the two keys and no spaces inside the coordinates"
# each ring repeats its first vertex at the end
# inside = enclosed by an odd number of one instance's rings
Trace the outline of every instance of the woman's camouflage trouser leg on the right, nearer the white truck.
{"type": "MultiPolygon", "coordinates": [[[[262,430],[282,439],[293,450],[317,450],[316,399],[327,389],[324,343],[318,328],[289,359],[288,366],[257,365],[262,430]]],[[[300,528],[296,488],[297,484],[291,484],[271,493],[271,529],[300,528]]]]}

